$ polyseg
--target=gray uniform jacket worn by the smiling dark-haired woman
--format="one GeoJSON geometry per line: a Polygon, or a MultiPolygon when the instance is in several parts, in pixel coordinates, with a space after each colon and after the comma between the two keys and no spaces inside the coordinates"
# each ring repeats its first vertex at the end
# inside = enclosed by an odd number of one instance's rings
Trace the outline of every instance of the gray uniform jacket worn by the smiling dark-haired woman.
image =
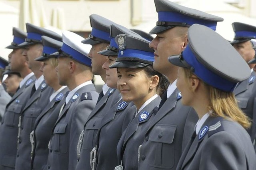
{"type": "Polygon", "coordinates": [[[138,170],[139,146],[145,138],[145,133],[150,126],[161,98],[158,96],[145,106],[130,122],[122,134],[116,148],[118,164],[121,164],[124,170],[138,170]]]}

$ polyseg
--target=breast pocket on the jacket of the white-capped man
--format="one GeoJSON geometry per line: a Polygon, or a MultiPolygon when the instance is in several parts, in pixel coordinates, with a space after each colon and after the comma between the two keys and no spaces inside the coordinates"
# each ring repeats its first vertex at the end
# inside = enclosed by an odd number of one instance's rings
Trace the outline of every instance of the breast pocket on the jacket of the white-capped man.
{"type": "Polygon", "coordinates": [[[68,152],[68,138],[66,134],[66,127],[68,123],[59,123],[55,126],[52,138],[52,150],[57,154],[65,154],[68,152]]]}

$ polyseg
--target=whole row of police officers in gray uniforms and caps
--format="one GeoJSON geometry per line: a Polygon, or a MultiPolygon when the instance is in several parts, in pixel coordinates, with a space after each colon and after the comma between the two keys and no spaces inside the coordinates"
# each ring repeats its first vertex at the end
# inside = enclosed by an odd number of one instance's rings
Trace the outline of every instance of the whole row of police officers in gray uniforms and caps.
{"type": "Polygon", "coordinates": [[[154,39],[96,14],[86,39],[13,29],[0,170],[256,170],[256,27],[234,48],[223,18],[154,1],[154,39]]]}

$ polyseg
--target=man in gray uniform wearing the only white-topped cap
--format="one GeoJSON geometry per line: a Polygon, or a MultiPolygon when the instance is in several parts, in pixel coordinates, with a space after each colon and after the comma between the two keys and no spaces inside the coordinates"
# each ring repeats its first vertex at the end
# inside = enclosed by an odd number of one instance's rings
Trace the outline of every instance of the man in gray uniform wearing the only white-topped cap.
{"type": "Polygon", "coordinates": [[[84,39],[75,33],[64,31],[63,45],[58,56],[58,80],[68,86],[63,110],[52,128],[49,142],[48,163],[50,170],[74,170],[77,163],[77,142],[92,109],[98,93],[92,84],[91,60],[88,58],[90,45],[82,44],[84,39]]]}

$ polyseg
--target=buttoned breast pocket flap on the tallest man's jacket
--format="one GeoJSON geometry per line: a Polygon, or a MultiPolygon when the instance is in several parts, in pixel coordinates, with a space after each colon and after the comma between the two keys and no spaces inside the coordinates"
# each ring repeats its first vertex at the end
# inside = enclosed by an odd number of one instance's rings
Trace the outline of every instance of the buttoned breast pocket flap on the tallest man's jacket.
{"type": "Polygon", "coordinates": [[[156,124],[149,135],[149,140],[171,144],[174,139],[177,126],[170,124],[156,124]]]}

